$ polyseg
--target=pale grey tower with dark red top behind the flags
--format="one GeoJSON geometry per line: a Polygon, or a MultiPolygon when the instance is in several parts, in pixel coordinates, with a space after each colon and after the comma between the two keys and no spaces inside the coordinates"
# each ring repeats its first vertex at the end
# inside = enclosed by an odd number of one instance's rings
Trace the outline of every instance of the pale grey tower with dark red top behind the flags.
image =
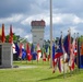
{"type": "Polygon", "coordinates": [[[45,32],[45,21],[32,21],[32,34],[33,34],[33,44],[36,46],[39,44],[43,47],[44,44],[44,32],[45,32]]]}

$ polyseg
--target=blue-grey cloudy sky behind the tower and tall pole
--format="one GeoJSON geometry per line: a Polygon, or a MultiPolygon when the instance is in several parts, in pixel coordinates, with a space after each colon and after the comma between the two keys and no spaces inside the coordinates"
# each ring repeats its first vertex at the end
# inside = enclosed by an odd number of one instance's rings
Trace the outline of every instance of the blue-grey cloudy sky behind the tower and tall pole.
{"type": "MultiPolygon", "coordinates": [[[[5,25],[5,35],[9,34],[10,24],[13,33],[32,42],[31,22],[45,20],[45,39],[50,38],[49,21],[50,0],[0,0],[0,27],[5,25]]],[[[63,36],[71,28],[72,35],[83,35],[83,0],[52,0],[52,35],[54,38],[63,36]]]]}

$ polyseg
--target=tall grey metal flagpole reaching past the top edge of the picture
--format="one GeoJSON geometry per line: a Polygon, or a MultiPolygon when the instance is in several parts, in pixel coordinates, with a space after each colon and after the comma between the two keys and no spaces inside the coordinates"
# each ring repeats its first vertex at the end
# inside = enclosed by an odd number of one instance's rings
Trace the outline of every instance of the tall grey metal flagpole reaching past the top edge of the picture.
{"type": "Polygon", "coordinates": [[[50,68],[52,68],[52,0],[50,0],[50,68]]]}

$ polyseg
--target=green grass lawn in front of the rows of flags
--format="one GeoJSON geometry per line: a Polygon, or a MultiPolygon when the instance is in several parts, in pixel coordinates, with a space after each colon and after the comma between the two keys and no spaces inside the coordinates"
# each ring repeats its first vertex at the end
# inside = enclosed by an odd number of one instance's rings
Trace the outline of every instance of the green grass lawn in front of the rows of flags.
{"type": "Polygon", "coordinates": [[[76,70],[66,78],[58,70],[52,73],[48,62],[14,61],[20,68],[0,69],[0,82],[83,82],[83,69],[76,70]]]}

